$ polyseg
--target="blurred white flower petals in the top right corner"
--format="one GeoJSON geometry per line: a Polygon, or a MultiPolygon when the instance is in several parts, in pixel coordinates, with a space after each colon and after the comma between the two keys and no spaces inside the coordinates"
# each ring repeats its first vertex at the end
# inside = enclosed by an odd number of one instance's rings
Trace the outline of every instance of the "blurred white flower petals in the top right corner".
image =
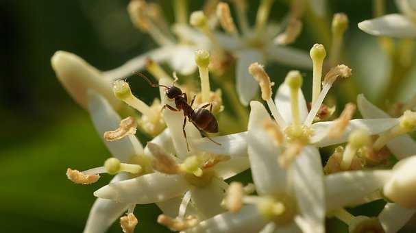
{"type": "Polygon", "coordinates": [[[374,36],[416,38],[416,1],[396,0],[401,14],[387,14],[358,23],[358,27],[374,36]]]}

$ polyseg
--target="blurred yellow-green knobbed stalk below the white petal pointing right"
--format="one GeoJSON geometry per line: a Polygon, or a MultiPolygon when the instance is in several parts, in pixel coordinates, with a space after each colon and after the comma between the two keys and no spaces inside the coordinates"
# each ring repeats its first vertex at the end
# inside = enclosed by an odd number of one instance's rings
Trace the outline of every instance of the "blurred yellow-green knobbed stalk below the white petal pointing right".
{"type": "Polygon", "coordinates": [[[354,130],[348,138],[348,145],[345,147],[343,159],[341,161],[341,169],[346,171],[350,169],[352,160],[356,155],[356,152],[361,147],[365,147],[371,144],[371,138],[369,132],[364,129],[354,130]]]}

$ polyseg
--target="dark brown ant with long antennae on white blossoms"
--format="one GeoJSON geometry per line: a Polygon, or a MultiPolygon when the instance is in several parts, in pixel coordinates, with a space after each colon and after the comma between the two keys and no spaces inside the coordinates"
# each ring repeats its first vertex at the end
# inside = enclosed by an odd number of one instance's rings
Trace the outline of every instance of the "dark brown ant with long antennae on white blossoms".
{"type": "Polygon", "coordinates": [[[176,108],[173,108],[169,104],[165,104],[162,108],[164,110],[165,108],[169,108],[169,110],[173,112],[180,112],[180,110],[184,111],[184,124],[182,125],[182,132],[184,133],[184,137],[186,140],[186,148],[189,151],[188,147],[188,139],[186,138],[186,132],[185,132],[185,125],[186,125],[186,118],[197,127],[199,132],[201,132],[202,135],[206,136],[209,140],[212,141],[212,143],[215,143],[217,145],[221,145],[220,143],[217,143],[215,140],[212,140],[205,132],[208,133],[217,133],[218,132],[218,123],[217,119],[215,119],[215,116],[212,114],[212,103],[207,103],[204,106],[201,106],[200,108],[192,108],[193,102],[195,101],[196,95],[194,95],[191,104],[188,104],[188,97],[186,97],[186,93],[182,93],[182,90],[175,86],[175,82],[178,81],[178,77],[175,76],[175,80],[173,81],[171,86],[164,86],[159,84],[154,84],[150,81],[150,79],[140,72],[133,72],[136,75],[139,75],[140,77],[143,77],[152,87],[160,87],[166,88],[165,94],[169,99],[175,100],[175,106],[176,108]],[[210,110],[207,110],[206,108],[210,106],[210,110]]]}

